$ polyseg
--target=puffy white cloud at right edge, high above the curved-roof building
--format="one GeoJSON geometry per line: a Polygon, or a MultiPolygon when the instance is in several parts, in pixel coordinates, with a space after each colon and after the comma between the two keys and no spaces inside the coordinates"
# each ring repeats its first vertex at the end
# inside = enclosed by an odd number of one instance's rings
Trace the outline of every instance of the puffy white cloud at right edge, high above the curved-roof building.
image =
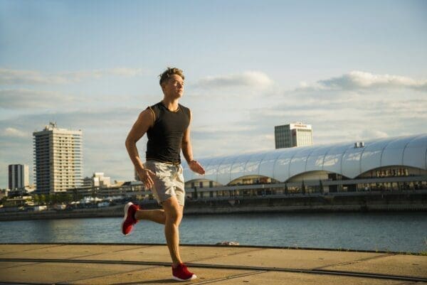
{"type": "MultiPolygon", "coordinates": [[[[352,71],[339,77],[317,82],[318,87],[338,90],[413,89],[427,91],[427,80],[414,80],[398,75],[377,75],[370,72],[352,71]]],[[[305,86],[307,87],[307,85],[305,86]]]]}

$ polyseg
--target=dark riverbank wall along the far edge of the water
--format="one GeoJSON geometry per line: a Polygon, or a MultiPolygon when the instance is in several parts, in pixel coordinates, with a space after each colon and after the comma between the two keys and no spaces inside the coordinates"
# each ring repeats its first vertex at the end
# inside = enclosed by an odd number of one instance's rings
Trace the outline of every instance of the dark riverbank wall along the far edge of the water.
{"type": "MultiPolygon", "coordinates": [[[[154,200],[142,200],[138,204],[144,209],[159,208],[154,200]]],[[[186,200],[184,214],[371,211],[427,211],[427,190],[204,198],[186,200]]],[[[0,221],[122,217],[122,215],[123,205],[115,205],[107,208],[6,212],[0,213],[0,221]]]]}

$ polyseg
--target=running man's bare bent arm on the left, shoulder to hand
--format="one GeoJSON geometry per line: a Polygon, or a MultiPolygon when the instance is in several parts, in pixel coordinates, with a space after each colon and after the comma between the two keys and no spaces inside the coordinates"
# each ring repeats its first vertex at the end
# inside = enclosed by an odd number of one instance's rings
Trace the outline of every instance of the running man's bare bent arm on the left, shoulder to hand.
{"type": "Polygon", "coordinates": [[[135,170],[137,171],[142,183],[144,183],[147,188],[152,188],[153,181],[150,176],[154,175],[154,173],[149,171],[149,169],[144,168],[144,164],[142,163],[141,158],[139,158],[137,141],[139,141],[139,139],[144,136],[149,127],[152,127],[153,124],[154,117],[151,111],[149,109],[142,111],[141,114],[139,114],[137,121],[132,126],[129,134],[127,135],[125,143],[130,160],[134,164],[135,170]]]}

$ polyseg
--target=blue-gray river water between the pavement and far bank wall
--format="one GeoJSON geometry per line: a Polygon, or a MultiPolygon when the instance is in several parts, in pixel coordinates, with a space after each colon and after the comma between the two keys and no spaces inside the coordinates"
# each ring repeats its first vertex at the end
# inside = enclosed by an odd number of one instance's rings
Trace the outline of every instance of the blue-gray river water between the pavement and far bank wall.
{"type": "MultiPolygon", "coordinates": [[[[270,213],[186,215],[182,244],[427,251],[426,213],[270,213]]],[[[130,236],[120,217],[0,222],[0,242],[164,243],[162,225],[139,222],[130,236]]]]}

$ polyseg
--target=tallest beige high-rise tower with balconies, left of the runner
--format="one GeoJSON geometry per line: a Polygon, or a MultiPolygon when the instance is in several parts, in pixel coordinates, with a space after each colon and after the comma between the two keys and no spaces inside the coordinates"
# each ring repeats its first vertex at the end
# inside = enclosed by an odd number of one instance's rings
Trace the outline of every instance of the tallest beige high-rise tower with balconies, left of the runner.
{"type": "Polygon", "coordinates": [[[33,132],[34,171],[38,193],[65,191],[83,182],[82,131],[49,123],[33,132]]]}

